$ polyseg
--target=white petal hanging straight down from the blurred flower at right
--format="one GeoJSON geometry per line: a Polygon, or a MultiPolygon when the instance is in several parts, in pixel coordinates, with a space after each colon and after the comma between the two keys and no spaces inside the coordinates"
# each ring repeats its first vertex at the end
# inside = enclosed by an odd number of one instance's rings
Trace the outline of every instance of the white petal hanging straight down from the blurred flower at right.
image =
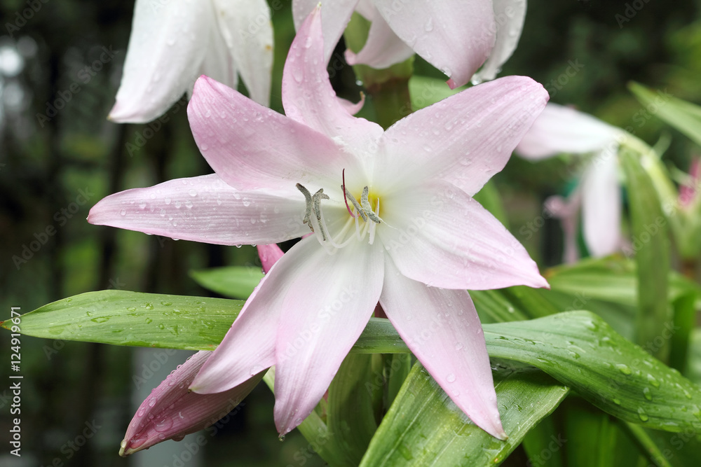
{"type": "Polygon", "coordinates": [[[582,229],[592,256],[620,249],[620,207],[618,157],[601,151],[582,176],[582,229]]]}

